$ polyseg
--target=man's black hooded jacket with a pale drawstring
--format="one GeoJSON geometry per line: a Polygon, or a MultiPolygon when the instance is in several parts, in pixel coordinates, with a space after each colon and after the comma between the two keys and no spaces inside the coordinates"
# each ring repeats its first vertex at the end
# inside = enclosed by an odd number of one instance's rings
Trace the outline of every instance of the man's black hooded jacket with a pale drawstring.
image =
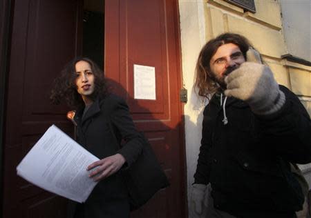
{"type": "Polygon", "coordinates": [[[294,93],[280,89],[285,105],[269,116],[255,115],[233,97],[220,106],[219,93],[205,107],[194,179],[211,184],[215,208],[247,218],[301,210],[303,194],[289,162],[311,161],[310,116],[294,93]]]}

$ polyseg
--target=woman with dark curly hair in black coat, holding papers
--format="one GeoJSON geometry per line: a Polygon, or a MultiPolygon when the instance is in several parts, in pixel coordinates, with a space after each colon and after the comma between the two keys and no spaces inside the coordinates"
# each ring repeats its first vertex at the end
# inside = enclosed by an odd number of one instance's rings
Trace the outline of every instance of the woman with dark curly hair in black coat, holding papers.
{"type": "Polygon", "coordinates": [[[86,169],[98,184],[83,204],[70,202],[68,217],[129,217],[128,192],[120,168],[133,164],[143,142],[125,101],[107,91],[104,73],[85,57],[66,65],[55,79],[50,99],[66,102],[75,110],[77,142],[100,159],[86,169]],[[115,137],[124,141],[122,148],[116,148],[115,137]]]}

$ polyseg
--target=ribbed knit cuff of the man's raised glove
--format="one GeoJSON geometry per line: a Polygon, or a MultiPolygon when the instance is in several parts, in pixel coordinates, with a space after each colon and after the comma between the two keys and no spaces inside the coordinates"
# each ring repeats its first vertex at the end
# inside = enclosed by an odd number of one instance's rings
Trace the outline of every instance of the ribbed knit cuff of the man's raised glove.
{"type": "Polygon", "coordinates": [[[276,95],[276,98],[274,99],[273,103],[270,104],[269,106],[265,107],[265,108],[261,108],[260,110],[258,110],[258,107],[256,108],[252,108],[252,111],[256,114],[256,115],[271,115],[274,112],[279,111],[282,106],[285,103],[285,95],[284,93],[279,90],[278,95],[276,95]]]}

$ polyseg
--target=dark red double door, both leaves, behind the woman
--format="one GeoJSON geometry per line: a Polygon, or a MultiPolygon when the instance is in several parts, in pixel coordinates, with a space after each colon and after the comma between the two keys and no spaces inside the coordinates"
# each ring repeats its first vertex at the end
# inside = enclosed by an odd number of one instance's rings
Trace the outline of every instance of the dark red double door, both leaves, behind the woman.
{"type": "MultiPolygon", "coordinates": [[[[82,0],[23,0],[12,7],[3,144],[3,217],[64,217],[66,200],[17,177],[16,166],[52,123],[70,133],[67,108],[51,106],[51,84],[81,54],[82,0]]],[[[186,217],[185,146],[177,0],[106,0],[105,71],[125,97],[171,186],[132,217],[186,217]],[[135,99],[133,65],[155,69],[156,99],[135,99]]],[[[40,163],[38,163],[40,164],[40,163]]]]}

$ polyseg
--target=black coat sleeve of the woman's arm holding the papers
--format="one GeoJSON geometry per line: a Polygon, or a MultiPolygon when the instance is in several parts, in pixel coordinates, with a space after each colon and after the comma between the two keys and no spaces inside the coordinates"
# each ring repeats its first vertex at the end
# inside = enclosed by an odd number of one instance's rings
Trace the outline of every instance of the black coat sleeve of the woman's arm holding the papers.
{"type": "Polygon", "coordinates": [[[127,166],[131,166],[142,152],[142,137],[136,130],[129,107],[121,98],[117,98],[110,115],[111,123],[117,129],[119,137],[124,141],[117,152],[124,157],[127,166]]]}

